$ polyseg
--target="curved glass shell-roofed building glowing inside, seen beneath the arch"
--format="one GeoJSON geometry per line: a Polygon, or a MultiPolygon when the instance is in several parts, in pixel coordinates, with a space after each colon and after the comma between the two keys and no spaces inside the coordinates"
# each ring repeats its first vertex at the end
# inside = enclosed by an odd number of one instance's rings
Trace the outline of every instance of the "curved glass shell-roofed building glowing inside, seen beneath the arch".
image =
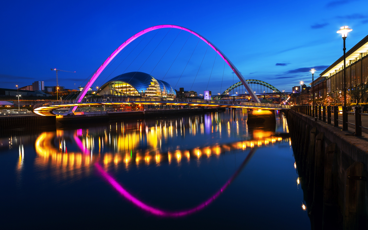
{"type": "Polygon", "coordinates": [[[176,92],[166,81],[144,72],[127,72],[103,84],[96,95],[136,96],[145,98],[176,98],[176,92]]]}

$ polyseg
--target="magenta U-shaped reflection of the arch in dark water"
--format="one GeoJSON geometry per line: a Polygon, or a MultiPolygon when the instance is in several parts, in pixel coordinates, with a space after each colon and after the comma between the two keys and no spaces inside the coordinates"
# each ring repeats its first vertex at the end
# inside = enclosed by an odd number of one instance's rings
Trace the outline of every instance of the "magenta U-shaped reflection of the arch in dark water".
{"type": "MultiPolygon", "coordinates": [[[[81,140],[75,135],[74,136],[75,142],[79,146],[79,148],[82,150],[83,153],[88,154],[88,150],[83,146],[81,140]]],[[[212,197],[207,199],[202,204],[191,208],[187,210],[181,210],[181,211],[166,211],[161,210],[152,206],[149,206],[145,204],[144,202],[140,201],[133,195],[131,195],[127,190],[125,190],[116,180],[114,177],[112,177],[109,173],[107,173],[105,170],[103,170],[102,166],[96,162],[95,166],[100,175],[107,180],[113,188],[116,189],[125,199],[132,202],[134,205],[138,206],[139,208],[153,214],[156,216],[163,216],[163,217],[181,217],[181,216],[187,216],[192,213],[198,212],[199,210],[205,208],[207,205],[211,204],[217,197],[222,194],[223,191],[233,182],[233,180],[238,176],[238,174],[241,172],[241,170],[244,168],[244,166],[249,162],[249,160],[254,155],[255,148],[252,148],[251,151],[248,153],[247,157],[244,159],[243,163],[239,167],[239,169],[233,174],[233,176],[230,177],[230,179],[220,188],[219,191],[217,191],[212,197]]]]}

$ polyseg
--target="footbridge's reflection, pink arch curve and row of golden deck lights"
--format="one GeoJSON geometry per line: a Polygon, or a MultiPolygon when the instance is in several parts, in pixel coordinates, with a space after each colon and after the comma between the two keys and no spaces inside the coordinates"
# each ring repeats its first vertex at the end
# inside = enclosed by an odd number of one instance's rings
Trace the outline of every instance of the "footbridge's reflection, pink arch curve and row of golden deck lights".
{"type": "MultiPolygon", "coordinates": [[[[139,124],[137,124],[139,127],[139,124]]],[[[155,127],[155,131],[153,133],[156,133],[159,128],[155,127]]],[[[87,131],[88,132],[88,131],[87,131]]],[[[108,137],[107,137],[108,138],[108,137]]],[[[272,132],[262,132],[262,131],[256,131],[253,135],[253,139],[247,140],[247,141],[237,141],[232,142],[228,144],[214,144],[211,146],[203,146],[200,148],[194,148],[194,149],[187,149],[187,150],[180,150],[177,149],[173,152],[168,153],[160,153],[160,152],[146,152],[144,155],[136,155],[134,160],[128,161],[129,159],[128,155],[119,156],[114,153],[105,153],[102,155],[92,156],[91,151],[93,149],[96,151],[97,148],[94,147],[95,142],[97,142],[97,138],[93,138],[89,135],[83,134],[81,130],[76,130],[74,132],[44,132],[37,138],[35,142],[35,148],[37,154],[40,156],[40,158],[43,158],[44,163],[53,163],[56,165],[65,165],[65,170],[73,170],[78,171],[78,169],[81,169],[84,166],[88,166],[89,170],[88,173],[91,173],[92,168],[94,167],[97,169],[99,174],[109,182],[109,184],[112,185],[114,189],[116,189],[124,198],[126,198],[128,201],[132,202],[134,205],[138,206],[139,208],[145,210],[146,212],[149,212],[153,215],[158,216],[164,216],[164,217],[180,217],[185,215],[190,215],[194,212],[197,212],[206,206],[208,206],[211,202],[213,202],[217,197],[219,197],[220,194],[230,185],[230,183],[236,178],[236,176],[240,173],[240,171],[245,167],[245,165],[249,162],[252,155],[255,152],[255,149],[257,147],[267,146],[271,144],[275,144],[277,142],[285,141],[283,140],[283,137],[279,136],[273,136],[272,132]],[[65,146],[65,141],[63,139],[59,141],[59,146],[57,145],[58,138],[64,138],[68,139],[69,141],[73,140],[75,143],[77,143],[77,146],[79,147],[80,151],[67,151],[67,148],[65,146]],[[58,148],[59,147],[59,148],[58,148]],[[127,164],[127,163],[143,163],[150,164],[153,162],[156,162],[159,164],[164,159],[167,159],[170,163],[171,160],[176,160],[178,163],[180,163],[181,158],[184,156],[188,159],[190,158],[199,158],[199,157],[210,157],[210,156],[219,156],[223,152],[228,152],[233,149],[250,149],[250,152],[248,153],[247,157],[239,167],[239,169],[233,174],[233,176],[230,177],[230,179],[211,197],[206,199],[204,202],[199,204],[198,206],[195,206],[191,209],[181,210],[181,211],[166,211],[162,209],[155,208],[153,206],[149,206],[145,204],[144,202],[137,199],[134,195],[130,194],[123,188],[116,179],[107,172],[109,168],[109,164],[127,164]],[[152,162],[153,161],[153,162],[152,162]],[[64,162],[64,163],[63,163],[64,162]],[[93,166],[93,167],[92,167],[93,166]]],[[[99,140],[99,147],[103,143],[103,141],[99,140]]],[[[136,142],[138,143],[138,142],[136,142]]],[[[81,170],[84,171],[84,170],[81,170]]],[[[74,174],[75,176],[78,176],[78,173],[74,174]]]]}

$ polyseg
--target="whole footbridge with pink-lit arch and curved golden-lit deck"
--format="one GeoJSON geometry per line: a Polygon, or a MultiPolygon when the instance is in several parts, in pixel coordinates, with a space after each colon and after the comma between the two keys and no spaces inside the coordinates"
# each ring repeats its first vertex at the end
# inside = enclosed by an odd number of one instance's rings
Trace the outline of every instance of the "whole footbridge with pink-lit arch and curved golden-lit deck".
{"type": "MultiPolygon", "coordinates": [[[[251,80],[251,81],[258,81],[258,80],[251,80]]],[[[259,81],[261,82],[261,81],[259,81]]],[[[265,82],[264,82],[265,83],[265,82]]],[[[265,83],[266,84],[266,83],[265,83]]],[[[238,84],[239,86],[240,84],[238,84]]],[[[270,85],[269,85],[270,86],[270,85]]],[[[272,86],[273,87],[273,86],[272,86]]],[[[273,87],[274,88],[274,87],[273,87]]],[[[275,88],[276,89],[276,88],[275,88]]],[[[289,109],[290,107],[285,105],[272,105],[268,103],[261,103],[261,101],[258,99],[256,94],[253,92],[252,88],[248,84],[248,81],[245,80],[243,75],[238,71],[238,69],[234,66],[233,63],[225,56],[225,54],[219,50],[215,45],[213,45],[212,42],[210,42],[208,39],[204,38],[202,35],[200,35],[197,32],[194,32],[188,28],[185,28],[183,26],[177,26],[177,25],[157,25],[152,26],[150,28],[144,29],[135,35],[128,38],[123,44],[121,44],[119,47],[117,47],[116,50],[110,56],[100,65],[100,67],[94,72],[91,79],[87,82],[87,84],[83,87],[82,91],[78,94],[77,99],[75,100],[64,100],[64,101],[46,101],[43,103],[40,103],[36,105],[33,108],[33,112],[39,115],[43,116],[55,116],[52,111],[60,108],[60,107],[70,107],[67,114],[74,113],[74,111],[77,109],[78,106],[91,106],[91,105],[113,105],[113,104],[145,104],[145,105],[185,105],[185,106],[209,106],[209,107],[235,107],[235,108],[254,108],[254,109],[268,109],[268,110],[274,110],[274,109],[289,109]],[[103,72],[103,70],[109,65],[109,63],[114,59],[114,57],[117,56],[117,54],[123,50],[128,44],[133,42],[135,39],[137,39],[139,36],[144,35],[145,33],[148,33],[150,31],[161,29],[161,28],[176,28],[183,31],[187,31],[191,33],[192,35],[197,36],[199,39],[204,41],[206,44],[209,45],[215,52],[222,57],[222,59],[229,65],[231,70],[234,71],[234,73],[237,75],[237,77],[240,79],[241,85],[244,85],[245,89],[250,93],[250,96],[255,101],[255,103],[251,102],[229,102],[224,100],[198,100],[198,99],[174,99],[174,100],[166,100],[166,98],[110,98],[112,101],[104,101],[105,99],[94,99],[95,101],[91,101],[91,99],[84,98],[86,93],[88,92],[89,88],[92,86],[93,82],[96,81],[96,79],[99,77],[99,75],[103,72]]]]}

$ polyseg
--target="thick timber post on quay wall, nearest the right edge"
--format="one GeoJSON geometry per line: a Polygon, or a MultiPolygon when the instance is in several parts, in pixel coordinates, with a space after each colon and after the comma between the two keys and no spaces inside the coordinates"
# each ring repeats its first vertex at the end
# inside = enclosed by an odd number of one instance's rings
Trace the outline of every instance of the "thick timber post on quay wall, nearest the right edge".
{"type": "Polygon", "coordinates": [[[346,170],[344,229],[367,229],[365,216],[366,181],[363,163],[355,162],[346,170]]]}

